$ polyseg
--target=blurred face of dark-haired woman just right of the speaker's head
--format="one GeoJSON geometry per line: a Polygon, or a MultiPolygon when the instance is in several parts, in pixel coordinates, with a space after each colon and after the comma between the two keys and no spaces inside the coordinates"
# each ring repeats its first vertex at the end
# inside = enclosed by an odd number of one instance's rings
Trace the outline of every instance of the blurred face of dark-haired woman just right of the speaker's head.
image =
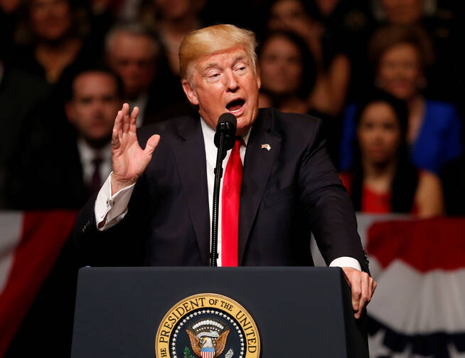
{"type": "Polygon", "coordinates": [[[260,53],[262,88],[275,95],[296,95],[303,70],[299,47],[285,36],[272,36],[260,53]]]}

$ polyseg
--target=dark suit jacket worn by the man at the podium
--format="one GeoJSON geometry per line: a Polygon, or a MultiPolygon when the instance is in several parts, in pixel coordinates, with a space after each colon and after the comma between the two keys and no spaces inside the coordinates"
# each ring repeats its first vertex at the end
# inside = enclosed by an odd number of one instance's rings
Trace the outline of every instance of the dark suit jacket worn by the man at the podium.
{"type": "MultiPolygon", "coordinates": [[[[98,232],[94,200],[75,237],[93,265],[208,265],[210,218],[200,120],[182,117],[143,127],[161,141],[137,181],[124,219],[98,232]]],[[[262,109],[252,127],[240,194],[240,265],[312,265],[314,232],[326,263],[356,258],[368,270],[356,217],[321,137],[321,121],[262,109]],[[262,149],[269,144],[271,150],[262,149]]]]}

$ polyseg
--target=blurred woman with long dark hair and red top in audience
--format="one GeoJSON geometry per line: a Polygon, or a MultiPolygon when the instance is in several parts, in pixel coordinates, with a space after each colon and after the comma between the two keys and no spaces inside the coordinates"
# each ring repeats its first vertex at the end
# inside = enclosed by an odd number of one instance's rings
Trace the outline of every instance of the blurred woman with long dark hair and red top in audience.
{"type": "Polygon", "coordinates": [[[407,105],[374,91],[356,112],[354,162],[341,179],[356,211],[371,214],[444,214],[439,178],[416,169],[407,155],[407,105]]]}

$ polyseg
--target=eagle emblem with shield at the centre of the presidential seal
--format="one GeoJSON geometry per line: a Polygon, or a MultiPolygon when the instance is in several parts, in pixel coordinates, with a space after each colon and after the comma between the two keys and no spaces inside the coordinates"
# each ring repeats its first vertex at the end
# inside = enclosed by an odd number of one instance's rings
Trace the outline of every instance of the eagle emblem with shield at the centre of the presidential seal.
{"type": "Polygon", "coordinates": [[[219,357],[230,330],[218,320],[200,320],[186,330],[193,352],[201,358],[219,357]]]}

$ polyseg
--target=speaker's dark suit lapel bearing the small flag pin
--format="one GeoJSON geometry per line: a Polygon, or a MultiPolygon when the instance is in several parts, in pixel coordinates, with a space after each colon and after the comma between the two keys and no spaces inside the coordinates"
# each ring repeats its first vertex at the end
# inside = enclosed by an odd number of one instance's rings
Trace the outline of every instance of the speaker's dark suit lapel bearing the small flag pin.
{"type": "Polygon", "coordinates": [[[240,189],[239,265],[281,145],[281,138],[272,132],[272,120],[271,111],[260,110],[247,142],[240,189]],[[270,149],[262,148],[262,144],[269,144],[270,149]]]}

